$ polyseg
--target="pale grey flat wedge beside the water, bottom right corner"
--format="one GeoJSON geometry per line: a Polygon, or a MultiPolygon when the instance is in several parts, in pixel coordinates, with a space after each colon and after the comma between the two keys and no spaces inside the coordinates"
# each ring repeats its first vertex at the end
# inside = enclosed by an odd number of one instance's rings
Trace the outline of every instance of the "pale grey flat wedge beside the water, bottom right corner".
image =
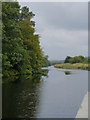
{"type": "Polygon", "coordinates": [[[76,118],[88,118],[88,92],[84,96],[82,104],[77,112],[76,118]]]}

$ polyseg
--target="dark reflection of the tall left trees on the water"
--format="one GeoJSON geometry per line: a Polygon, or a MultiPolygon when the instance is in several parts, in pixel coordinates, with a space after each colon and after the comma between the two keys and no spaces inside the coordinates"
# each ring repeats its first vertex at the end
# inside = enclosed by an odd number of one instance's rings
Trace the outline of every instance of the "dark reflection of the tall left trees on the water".
{"type": "MultiPolygon", "coordinates": [[[[9,78],[10,79],[10,78],[9,78]]],[[[19,77],[3,84],[3,118],[35,117],[39,103],[41,76],[19,77]]]]}

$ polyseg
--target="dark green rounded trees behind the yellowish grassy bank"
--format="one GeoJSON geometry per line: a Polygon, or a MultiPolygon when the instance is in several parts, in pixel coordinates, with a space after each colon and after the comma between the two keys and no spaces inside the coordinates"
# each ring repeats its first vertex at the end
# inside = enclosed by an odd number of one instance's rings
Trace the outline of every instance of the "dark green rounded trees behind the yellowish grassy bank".
{"type": "Polygon", "coordinates": [[[84,56],[75,56],[75,57],[70,57],[67,56],[64,63],[88,63],[88,58],[84,57],[84,56]]]}

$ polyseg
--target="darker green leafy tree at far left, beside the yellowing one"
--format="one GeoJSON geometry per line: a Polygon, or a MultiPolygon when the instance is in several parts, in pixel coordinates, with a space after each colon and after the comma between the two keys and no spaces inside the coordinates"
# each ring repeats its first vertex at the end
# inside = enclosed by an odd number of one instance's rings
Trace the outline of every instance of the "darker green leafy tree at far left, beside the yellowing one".
{"type": "Polygon", "coordinates": [[[19,71],[15,66],[23,57],[22,35],[18,24],[20,6],[17,2],[2,3],[2,54],[3,75],[19,71]]]}

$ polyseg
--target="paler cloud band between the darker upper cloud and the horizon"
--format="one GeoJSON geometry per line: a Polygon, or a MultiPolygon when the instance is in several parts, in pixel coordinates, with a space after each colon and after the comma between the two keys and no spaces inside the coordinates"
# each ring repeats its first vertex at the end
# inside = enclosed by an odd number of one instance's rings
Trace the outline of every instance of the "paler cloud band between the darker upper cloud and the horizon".
{"type": "Polygon", "coordinates": [[[63,59],[67,55],[88,54],[87,31],[52,31],[52,35],[44,32],[42,34],[41,45],[50,59],[63,59]],[[60,32],[60,35],[58,34],[60,32]]]}

